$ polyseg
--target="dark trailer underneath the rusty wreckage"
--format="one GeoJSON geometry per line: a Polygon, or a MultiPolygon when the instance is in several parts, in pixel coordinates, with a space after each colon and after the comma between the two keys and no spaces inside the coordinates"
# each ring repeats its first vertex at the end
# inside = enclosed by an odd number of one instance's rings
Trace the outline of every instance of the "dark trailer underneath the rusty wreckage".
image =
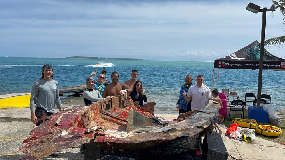
{"type": "Polygon", "coordinates": [[[163,143],[145,149],[116,149],[86,143],[84,160],[227,160],[227,157],[227,149],[219,133],[210,132],[203,139],[203,144],[200,137],[191,148],[163,143]]]}

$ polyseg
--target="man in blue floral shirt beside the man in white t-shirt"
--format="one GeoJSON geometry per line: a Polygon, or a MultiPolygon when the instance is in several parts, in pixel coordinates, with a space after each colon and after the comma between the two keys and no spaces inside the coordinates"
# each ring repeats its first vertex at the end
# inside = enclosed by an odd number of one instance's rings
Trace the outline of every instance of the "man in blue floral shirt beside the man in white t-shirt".
{"type": "Polygon", "coordinates": [[[178,111],[179,109],[179,114],[180,113],[186,113],[186,112],[189,112],[191,111],[191,101],[190,102],[187,102],[184,97],[183,97],[183,91],[185,92],[188,92],[189,88],[192,86],[192,75],[186,75],[185,77],[185,84],[181,86],[181,89],[180,89],[180,95],[179,95],[179,99],[176,103],[176,109],[178,111]]]}

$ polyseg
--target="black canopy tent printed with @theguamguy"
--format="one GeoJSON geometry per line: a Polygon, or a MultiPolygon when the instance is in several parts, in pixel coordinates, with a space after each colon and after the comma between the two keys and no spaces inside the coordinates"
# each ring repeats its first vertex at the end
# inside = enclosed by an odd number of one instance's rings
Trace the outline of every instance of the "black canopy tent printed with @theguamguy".
{"type": "MultiPolygon", "coordinates": [[[[228,56],[219,58],[214,61],[212,91],[215,81],[215,69],[218,68],[217,84],[220,69],[258,69],[260,56],[260,43],[256,40],[248,46],[232,53],[228,56]]],[[[274,56],[264,49],[263,69],[285,71],[285,60],[274,56]]]]}

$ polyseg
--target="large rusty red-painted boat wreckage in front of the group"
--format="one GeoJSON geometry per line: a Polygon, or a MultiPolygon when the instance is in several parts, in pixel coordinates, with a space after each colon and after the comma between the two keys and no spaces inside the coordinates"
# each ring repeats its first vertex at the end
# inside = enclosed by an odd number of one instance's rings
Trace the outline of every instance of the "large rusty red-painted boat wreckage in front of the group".
{"type": "MultiPolygon", "coordinates": [[[[214,128],[220,104],[212,100],[201,111],[179,114],[166,125],[153,123],[155,102],[140,107],[126,94],[76,106],[49,116],[35,126],[20,159],[40,159],[62,149],[93,143],[102,147],[141,149],[187,137],[193,141],[214,128]]],[[[156,120],[158,120],[156,118],[156,120]]],[[[159,121],[159,120],[158,120],[159,121]]]]}

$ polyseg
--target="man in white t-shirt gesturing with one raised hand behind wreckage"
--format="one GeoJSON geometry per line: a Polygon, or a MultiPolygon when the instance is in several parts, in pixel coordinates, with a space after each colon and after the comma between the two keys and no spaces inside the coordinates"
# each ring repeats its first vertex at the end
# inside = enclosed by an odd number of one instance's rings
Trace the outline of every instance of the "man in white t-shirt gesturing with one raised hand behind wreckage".
{"type": "Polygon", "coordinates": [[[183,96],[187,102],[191,103],[191,110],[202,110],[207,104],[208,100],[212,100],[210,88],[203,84],[203,75],[198,75],[196,78],[197,84],[190,87],[188,92],[183,91],[183,96]]]}

